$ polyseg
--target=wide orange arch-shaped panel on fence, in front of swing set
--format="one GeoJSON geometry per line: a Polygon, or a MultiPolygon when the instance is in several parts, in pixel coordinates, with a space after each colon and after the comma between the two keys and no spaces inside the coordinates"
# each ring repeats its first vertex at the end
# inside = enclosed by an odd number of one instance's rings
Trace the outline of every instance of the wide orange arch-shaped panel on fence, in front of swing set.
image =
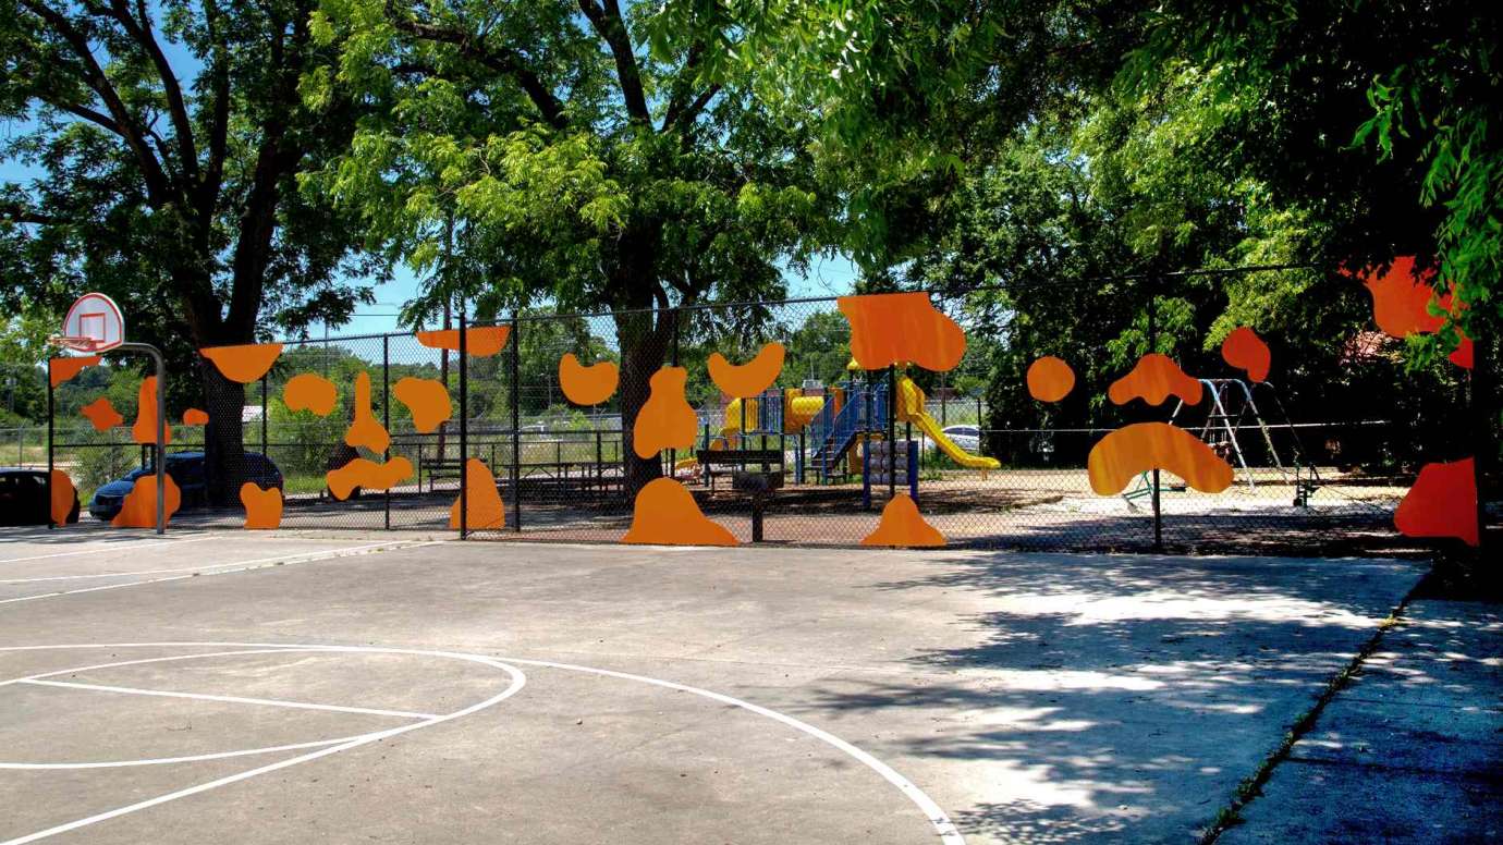
{"type": "Polygon", "coordinates": [[[1123,426],[1091,447],[1085,471],[1091,490],[1114,496],[1150,469],[1168,469],[1202,493],[1231,487],[1231,465],[1199,438],[1168,422],[1123,426]]]}

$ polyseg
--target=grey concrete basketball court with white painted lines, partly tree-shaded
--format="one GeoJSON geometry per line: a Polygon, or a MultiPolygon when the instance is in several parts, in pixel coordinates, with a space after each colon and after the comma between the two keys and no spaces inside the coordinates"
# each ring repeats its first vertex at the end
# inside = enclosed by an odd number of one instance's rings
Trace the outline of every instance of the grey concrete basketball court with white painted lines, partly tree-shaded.
{"type": "Polygon", "coordinates": [[[0,534],[0,842],[1192,842],[1374,559],[0,534]]]}

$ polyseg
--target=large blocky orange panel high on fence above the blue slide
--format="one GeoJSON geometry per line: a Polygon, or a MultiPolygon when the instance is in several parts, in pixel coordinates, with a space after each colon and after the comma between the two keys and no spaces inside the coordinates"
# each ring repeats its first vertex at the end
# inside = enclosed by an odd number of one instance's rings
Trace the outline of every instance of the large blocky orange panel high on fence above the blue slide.
{"type": "Polygon", "coordinates": [[[911,362],[938,373],[954,370],[965,355],[965,332],[927,293],[866,293],[836,304],[851,323],[851,356],[863,370],[911,362]]]}

